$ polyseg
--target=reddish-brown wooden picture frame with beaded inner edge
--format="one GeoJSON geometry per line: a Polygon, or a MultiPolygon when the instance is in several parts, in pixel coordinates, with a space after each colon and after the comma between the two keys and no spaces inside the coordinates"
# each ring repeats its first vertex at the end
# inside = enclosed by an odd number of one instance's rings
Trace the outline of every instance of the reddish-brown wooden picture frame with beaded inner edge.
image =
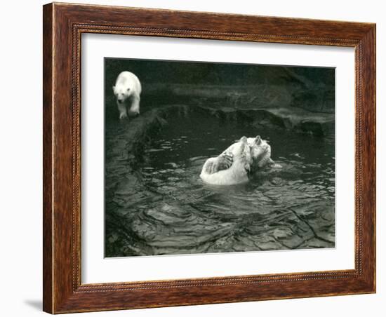
{"type": "Polygon", "coordinates": [[[375,25],[113,6],[44,6],[44,311],[70,313],[375,292],[375,25]],[[355,269],[81,283],[81,34],[355,48],[355,269]]]}

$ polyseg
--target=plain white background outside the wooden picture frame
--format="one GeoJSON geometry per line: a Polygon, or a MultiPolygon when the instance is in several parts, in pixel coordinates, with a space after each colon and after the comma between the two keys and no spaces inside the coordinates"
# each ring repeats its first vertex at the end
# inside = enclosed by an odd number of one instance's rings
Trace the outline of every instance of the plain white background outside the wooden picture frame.
{"type": "MultiPolygon", "coordinates": [[[[378,293],[344,297],[84,313],[81,316],[383,316],[386,301],[385,248],[385,56],[386,22],[382,1],[178,1],[79,0],[88,4],[217,11],[328,20],[377,22],[378,55],[378,293]],[[383,267],[383,268],[382,268],[383,267]],[[383,304],[383,303],[382,303],[383,304]]],[[[67,2],[67,1],[65,1],[67,2]]],[[[40,316],[41,312],[41,151],[42,9],[45,1],[7,1],[1,17],[1,315],[40,316]]],[[[365,246],[366,247],[366,246],[365,246]]]]}

